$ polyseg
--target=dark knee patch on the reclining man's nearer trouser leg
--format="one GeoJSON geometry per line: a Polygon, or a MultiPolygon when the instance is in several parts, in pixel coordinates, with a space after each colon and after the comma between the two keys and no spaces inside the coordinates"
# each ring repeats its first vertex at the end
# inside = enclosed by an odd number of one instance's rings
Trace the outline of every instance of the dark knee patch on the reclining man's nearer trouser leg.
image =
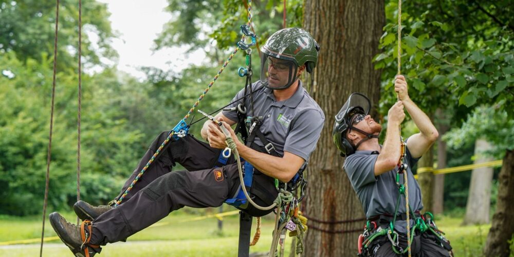
{"type": "Polygon", "coordinates": [[[157,200],[170,190],[186,187],[186,172],[175,171],[163,175],[146,186],[142,191],[152,200],[157,200]]]}

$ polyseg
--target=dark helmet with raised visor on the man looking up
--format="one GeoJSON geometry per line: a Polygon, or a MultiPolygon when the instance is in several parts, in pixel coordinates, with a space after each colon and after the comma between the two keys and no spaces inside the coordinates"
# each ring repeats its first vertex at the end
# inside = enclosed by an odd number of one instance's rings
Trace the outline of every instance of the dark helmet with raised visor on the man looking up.
{"type": "MultiPolygon", "coordinates": [[[[355,150],[357,149],[357,147],[346,138],[346,131],[348,128],[359,131],[360,133],[366,135],[368,139],[378,138],[378,136],[365,133],[354,128],[352,124],[350,124],[354,115],[368,115],[370,113],[370,108],[371,102],[368,97],[360,93],[353,93],[350,95],[350,97],[348,97],[348,100],[346,100],[346,103],[344,103],[343,107],[339,110],[339,113],[337,113],[332,136],[334,137],[334,143],[336,144],[337,149],[339,149],[341,152],[341,156],[349,156],[355,153],[355,150]]],[[[361,142],[359,142],[359,144],[361,142]]]]}

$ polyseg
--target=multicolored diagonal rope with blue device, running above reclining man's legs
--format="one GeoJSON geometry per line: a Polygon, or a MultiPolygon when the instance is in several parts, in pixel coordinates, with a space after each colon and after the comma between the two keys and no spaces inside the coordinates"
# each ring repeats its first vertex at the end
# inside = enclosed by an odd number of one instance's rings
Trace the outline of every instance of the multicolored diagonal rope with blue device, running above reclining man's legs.
{"type": "MultiPolygon", "coordinates": [[[[251,8],[252,8],[252,2],[251,0],[248,0],[248,23],[247,23],[247,26],[250,27],[251,25],[251,8]]],[[[245,41],[245,34],[243,34],[242,38],[241,38],[241,41],[244,42],[245,41]]],[[[223,70],[225,69],[225,67],[227,67],[228,63],[232,60],[232,58],[234,57],[234,54],[237,53],[237,51],[241,49],[240,46],[236,47],[234,49],[234,51],[232,51],[232,53],[230,54],[229,58],[227,59],[227,61],[225,61],[225,63],[223,64],[223,66],[218,70],[216,76],[214,76],[214,78],[211,80],[211,82],[209,83],[209,85],[207,86],[207,88],[204,90],[204,92],[198,97],[198,99],[196,100],[196,102],[193,104],[193,106],[189,109],[189,112],[186,114],[186,116],[184,116],[184,118],[182,120],[180,120],[180,122],[175,126],[175,128],[170,131],[170,133],[168,134],[168,137],[161,143],[161,145],[159,146],[159,148],[157,149],[157,151],[155,151],[154,155],[152,156],[152,158],[150,158],[150,160],[146,163],[146,165],[143,167],[143,169],[139,172],[139,174],[134,178],[134,180],[131,182],[130,186],[128,186],[128,188],[125,190],[125,192],[121,195],[121,197],[116,201],[116,203],[114,204],[114,206],[118,206],[121,204],[121,202],[123,201],[123,199],[125,198],[125,196],[128,194],[128,192],[130,192],[132,190],[132,188],[134,187],[134,185],[137,183],[137,181],[139,180],[139,178],[141,178],[141,176],[144,174],[144,172],[148,169],[148,167],[150,167],[150,165],[154,162],[155,158],[159,155],[159,153],[162,151],[162,149],[164,148],[164,146],[166,144],[168,144],[168,142],[171,140],[171,138],[173,136],[175,136],[176,138],[178,137],[181,137],[181,136],[185,136],[185,133],[187,133],[187,131],[189,130],[187,124],[186,124],[186,120],[189,118],[189,116],[193,113],[194,109],[196,108],[196,106],[198,106],[198,104],[200,103],[200,101],[202,99],[204,99],[205,95],[207,94],[207,92],[209,91],[209,89],[212,87],[212,85],[214,84],[214,82],[216,82],[216,80],[218,79],[219,75],[222,74],[223,70]],[[180,132],[183,132],[183,134],[179,134],[180,132]],[[177,135],[175,135],[175,133],[177,133],[177,135]]],[[[243,184],[244,185],[244,184],[243,184]]]]}

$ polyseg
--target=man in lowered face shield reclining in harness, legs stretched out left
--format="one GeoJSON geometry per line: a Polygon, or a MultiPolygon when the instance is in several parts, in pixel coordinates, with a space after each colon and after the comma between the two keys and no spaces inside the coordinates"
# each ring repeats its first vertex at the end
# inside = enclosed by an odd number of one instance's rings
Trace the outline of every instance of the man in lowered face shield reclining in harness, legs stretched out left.
{"type": "MultiPolygon", "coordinates": [[[[269,206],[278,195],[275,180],[284,185],[305,167],[325,117],[299,80],[304,71],[310,73],[316,66],[319,46],[314,38],[303,29],[287,28],[271,35],[261,51],[261,80],[237,93],[233,103],[214,118],[222,121],[246,161],[245,186],[250,197],[269,206]],[[246,145],[236,140],[230,127],[236,123],[243,125],[237,130],[246,145]]],[[[150,145],[116,200],[131,187],[168,134],[161,133],[150,145]]],[[[256,209],[240,197],[237,163],[233,156],[222,154],[227,144],[219,125],[206,121],[201,136],[209,143],[188,134],[172,138],[120,205],[76,203],[77,215],[92,223],[77,226],[54,212],[50,214],[53,229],[76,256],[91,256],[100,252],[101,245],[124,240],[184,206],[217,207],[227,202],[252,216],[271,212],[256,209]],[[188,171],[171,172],[175,163],[188,171]]]]}

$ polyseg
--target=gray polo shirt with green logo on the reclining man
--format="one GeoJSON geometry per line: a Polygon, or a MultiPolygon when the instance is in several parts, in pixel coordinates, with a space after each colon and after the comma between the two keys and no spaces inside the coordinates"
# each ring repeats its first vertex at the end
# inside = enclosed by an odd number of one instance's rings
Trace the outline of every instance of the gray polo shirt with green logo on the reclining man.
{"type": "MultiPolygon", "coordinates": [[[[316,149],[325,115],[318,103],[302,87],[302,82],[300,81],[295,94],[283,101],[277,101],[273,90],[263,87],[260,81],[253,83],[252,89],[255,114],[251,113],[248,96],[245,102],[247,115],[264,118],[261,126],[264,137],[273,144],[280,156],[287,151],[308,160],[310,154],[316,149]]],[[[244,94],[245,90],[242,89],[232,101],[242,98],[244,94]]],[[[243,100],[237,101],[229,107],[242,102],[243,100]]],[[[223,115],[232,121],[237,121],[236,111],[223,111],[223,115]]],[[[255,143],[264,146],[258,137],[255,137],[255,143]]]]}

